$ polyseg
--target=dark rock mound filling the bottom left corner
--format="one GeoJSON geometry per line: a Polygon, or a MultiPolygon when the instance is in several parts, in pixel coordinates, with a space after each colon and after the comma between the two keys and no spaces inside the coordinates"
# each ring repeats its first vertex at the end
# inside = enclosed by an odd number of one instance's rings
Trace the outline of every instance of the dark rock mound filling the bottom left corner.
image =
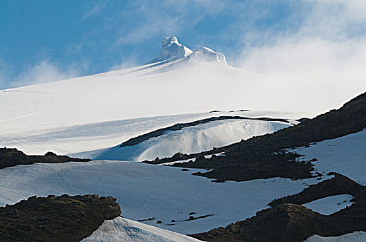
{"type": "Polygon", "coordinates": [[[112,196],[33,196],[0,207],[0,241],[80,241],[119,214],[112,196]]]}

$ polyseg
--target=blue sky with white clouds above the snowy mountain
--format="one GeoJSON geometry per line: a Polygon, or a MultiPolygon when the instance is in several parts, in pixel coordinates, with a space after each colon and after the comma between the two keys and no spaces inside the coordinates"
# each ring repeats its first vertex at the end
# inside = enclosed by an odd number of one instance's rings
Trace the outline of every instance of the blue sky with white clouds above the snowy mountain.
{"type": "Polygon", "coordinates": [[[365,12],[363,0],[3,0],[0,89],[143,64],[166,36],[281,80],[341,76],[362,87],[365,12]]]}

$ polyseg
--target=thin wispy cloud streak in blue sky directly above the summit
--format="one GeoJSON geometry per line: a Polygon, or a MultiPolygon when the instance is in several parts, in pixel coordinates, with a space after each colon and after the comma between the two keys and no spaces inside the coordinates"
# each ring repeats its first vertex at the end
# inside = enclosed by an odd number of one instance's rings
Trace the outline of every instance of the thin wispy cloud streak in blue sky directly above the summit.
{"type": "Polygon", "coordinates": [[[208,15],[221,12],[225,3],[218,0],[182,1],[134,1],[133,15],[139,17],[136,26],[128,32],[121,32],[116,44],[139,43],[159,35],[179,35],[194,28],[195,24],[208,15]]]}

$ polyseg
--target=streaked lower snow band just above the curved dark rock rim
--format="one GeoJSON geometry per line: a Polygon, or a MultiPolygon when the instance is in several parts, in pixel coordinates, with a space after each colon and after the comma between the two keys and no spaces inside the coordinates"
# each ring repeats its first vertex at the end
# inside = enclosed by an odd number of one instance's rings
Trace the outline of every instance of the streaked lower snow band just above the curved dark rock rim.
{"type": "Polygon", "coordinates": [[[17,147],[27,154],[44,154],[47,151],[53,151],[58,154],[76,154],[85,158],[94,158],[104,149],[119,145],[143,133],[177,123],[193,122],[220,115],[295,120],[308,114],[273,111],[191,113],[76,125],[21,124],[18,126],[16,122],[9,122],[6,125],[0,122],[0,146],[17,147]]]}

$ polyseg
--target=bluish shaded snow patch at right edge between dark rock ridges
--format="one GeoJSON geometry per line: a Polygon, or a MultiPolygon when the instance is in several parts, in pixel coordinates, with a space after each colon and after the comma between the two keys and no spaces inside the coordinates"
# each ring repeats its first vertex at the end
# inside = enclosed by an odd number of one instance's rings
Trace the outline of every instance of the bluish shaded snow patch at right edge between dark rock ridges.
{"type": "Polygon", "coordinates": [[[327,174],[336,171],[360,185],[366,185],[366,130],[351,133],[332,140],[324,140],[308,148],[296,149],[296,153],[306,156],[300,160],[311,160],[315,171],[327,174]]]}

